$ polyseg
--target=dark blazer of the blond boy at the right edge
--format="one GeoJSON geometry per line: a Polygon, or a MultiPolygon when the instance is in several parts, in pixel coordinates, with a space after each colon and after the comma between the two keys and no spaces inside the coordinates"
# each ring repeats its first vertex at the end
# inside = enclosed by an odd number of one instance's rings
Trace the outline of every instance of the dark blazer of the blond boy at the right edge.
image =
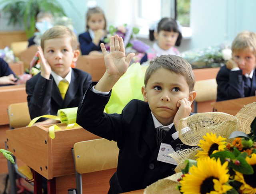
{"type": "Polygon", "coordinates": [[[220,68],[220,71],[218,72],[216,77],[216,82],[218,84],[216,101],[255,96],[255,70],[252,76],[250,95],[247,96],[244,94],[244,80],[242,70],[230,71],[225,65],[220,68]]]}

